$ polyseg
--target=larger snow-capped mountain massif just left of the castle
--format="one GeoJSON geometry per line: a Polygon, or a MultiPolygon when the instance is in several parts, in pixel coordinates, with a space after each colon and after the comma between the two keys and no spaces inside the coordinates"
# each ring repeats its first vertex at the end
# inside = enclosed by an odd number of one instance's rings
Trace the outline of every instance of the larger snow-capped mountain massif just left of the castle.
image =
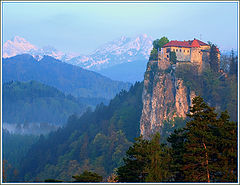
{"type": "Polygon", "coordinates": [[[86,69],[99,71],[114,65],[136,60],[148,60],[152,38],[146,34],[136,38],[121,37],[98,48],[91,55],[78,56],[67,61],[86,69]]]}

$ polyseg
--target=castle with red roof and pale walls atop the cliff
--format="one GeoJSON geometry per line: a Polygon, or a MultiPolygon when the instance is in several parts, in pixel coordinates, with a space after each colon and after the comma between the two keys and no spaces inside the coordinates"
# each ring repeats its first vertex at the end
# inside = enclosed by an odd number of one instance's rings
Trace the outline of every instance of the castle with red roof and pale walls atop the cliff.
{"type": "MultiPolygon", "coordinates": [[[[190,63],[198,67],[201,73],[204,68],[209,66],[210,45],[198,39],[188,41],[172,40],[165,44],[158,52],[158,60],[169,60],[170,52],[175,52],[177,65],[180,63],[190,63]]],[[[220,52],[218,52],[218,63],[220,63],[220,52]]]]}

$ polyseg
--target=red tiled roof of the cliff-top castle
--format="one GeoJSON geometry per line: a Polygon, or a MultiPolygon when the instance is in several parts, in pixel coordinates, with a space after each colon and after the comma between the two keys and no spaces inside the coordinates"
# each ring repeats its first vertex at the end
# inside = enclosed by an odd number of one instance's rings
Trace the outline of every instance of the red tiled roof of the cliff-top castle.
{"type": "Polygon", "coordinates": [[[191,48],[191,47],[200,47],[200,46],[208,46],[208,44],[198,40],[189,40],[189,41],[177,41],[177,40],[172,40],[165,44],[163,47],[171,47],[171,46],[176,46],[176,47],[185,47],[185,48],[191,48]]]}

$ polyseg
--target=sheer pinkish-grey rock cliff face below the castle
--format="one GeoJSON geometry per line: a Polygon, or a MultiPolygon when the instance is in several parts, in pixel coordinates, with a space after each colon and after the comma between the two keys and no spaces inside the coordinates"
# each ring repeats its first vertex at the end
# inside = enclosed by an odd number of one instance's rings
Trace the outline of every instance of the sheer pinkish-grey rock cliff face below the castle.
{"type": "Polygon", "coordinates": [[[165,121],[186,117],[194,96],[183,80],[175,77],[174,66],[169,61],[149,61],[144,76],[141,135],[148,138],[161,132],[165,121]]]}

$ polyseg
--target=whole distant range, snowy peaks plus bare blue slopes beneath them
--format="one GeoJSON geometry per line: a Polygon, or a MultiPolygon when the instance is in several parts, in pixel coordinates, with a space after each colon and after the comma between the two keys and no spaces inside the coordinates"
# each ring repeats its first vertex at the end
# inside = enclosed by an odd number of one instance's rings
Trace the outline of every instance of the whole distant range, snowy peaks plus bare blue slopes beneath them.
{"type": "Polygon", "coordinates": [[[50,46],[38,48],[26,39],[16,36],[3,45],[3,57],[27,53],[36,60],[41,60],[44,55],[48,55],[63,62],[99,72],[114,80],[135,82],[143,80],[152,41],[153,39],[146,34],[135,38],[121,37],[104,44],[90,55],[76,56],[50,46]],[[132,64],[129,65],[130,63],[132,64]],[[119,66],[121,70],[118,69],[118,65],[121,65],[119,66]]]}

